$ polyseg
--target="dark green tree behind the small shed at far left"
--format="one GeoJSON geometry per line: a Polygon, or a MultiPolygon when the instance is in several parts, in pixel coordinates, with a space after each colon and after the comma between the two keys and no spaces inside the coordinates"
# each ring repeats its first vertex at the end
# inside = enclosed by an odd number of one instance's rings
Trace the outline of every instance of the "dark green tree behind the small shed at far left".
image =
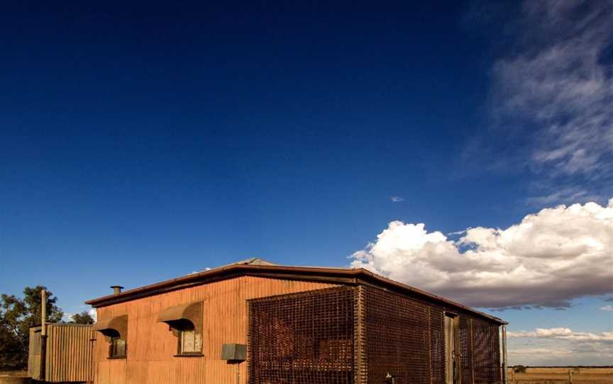
{"type": "MultiPolygon", "coordinates": [[[[0,368],[25,368],[28,364],[30,327],[40,325],[40,291],[43,286],[23,289],[23,299],[0,296],[0,368]]],[[[55,305],[57,298],[47,291],[47,321],[61,322],[64,312],[55,305]]]]}

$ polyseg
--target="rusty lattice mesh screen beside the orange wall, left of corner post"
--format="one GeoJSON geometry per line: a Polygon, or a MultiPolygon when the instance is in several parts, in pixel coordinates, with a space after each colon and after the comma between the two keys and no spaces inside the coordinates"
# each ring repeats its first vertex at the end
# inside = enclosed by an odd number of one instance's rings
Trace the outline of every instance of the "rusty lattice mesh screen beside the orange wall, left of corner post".
{"type": "Polygon", "coordinates": [[[353,384],[356,290],[249,300],[249,383],[353,384]]]}

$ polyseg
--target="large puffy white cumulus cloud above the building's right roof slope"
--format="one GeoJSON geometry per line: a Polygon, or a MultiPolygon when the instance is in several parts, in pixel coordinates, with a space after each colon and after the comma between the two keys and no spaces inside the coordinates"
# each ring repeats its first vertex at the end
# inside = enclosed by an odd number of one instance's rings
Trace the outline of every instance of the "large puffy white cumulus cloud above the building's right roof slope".
{"type": "Polygon", "coordinates": [[[546,208],[506,230],[469,228],[458,241],[394,221],[350,257],[354,268],[475,307],[568,307],[613,293],[613,198],[546,208]]]}

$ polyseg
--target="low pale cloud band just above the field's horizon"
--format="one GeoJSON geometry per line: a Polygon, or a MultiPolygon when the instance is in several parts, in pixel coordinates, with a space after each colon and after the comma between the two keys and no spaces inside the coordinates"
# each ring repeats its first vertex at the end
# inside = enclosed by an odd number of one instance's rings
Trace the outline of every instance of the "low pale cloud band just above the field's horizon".
{"type": "Polygon", "coordinates": [[[609,365],[613,360],[613,332],[537,328],[507,332],[507,336],[512,365],[609,365]]]}

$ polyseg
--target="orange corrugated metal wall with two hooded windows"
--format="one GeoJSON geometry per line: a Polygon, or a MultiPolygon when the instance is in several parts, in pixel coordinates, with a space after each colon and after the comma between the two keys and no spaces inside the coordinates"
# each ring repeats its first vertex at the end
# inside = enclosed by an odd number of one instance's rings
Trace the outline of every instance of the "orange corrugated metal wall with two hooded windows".
{"type": "MultiPolygon", "coordinates": [[[[99,307],[98,318],[128,315],[126,358],[109,359],[109,342],[99,334],[94,351],[96,384],[234,384],[236,366],[221,360],[224,343],[247,344],[247,300],[331,288],[331,283],[241,276],[99,307]],[[202,355],[177,357],[177,337],[158,322],[173,305],[203,302],[202,355]]],[[[241,384],[247,363],[239,366],[241,384]]]]}

